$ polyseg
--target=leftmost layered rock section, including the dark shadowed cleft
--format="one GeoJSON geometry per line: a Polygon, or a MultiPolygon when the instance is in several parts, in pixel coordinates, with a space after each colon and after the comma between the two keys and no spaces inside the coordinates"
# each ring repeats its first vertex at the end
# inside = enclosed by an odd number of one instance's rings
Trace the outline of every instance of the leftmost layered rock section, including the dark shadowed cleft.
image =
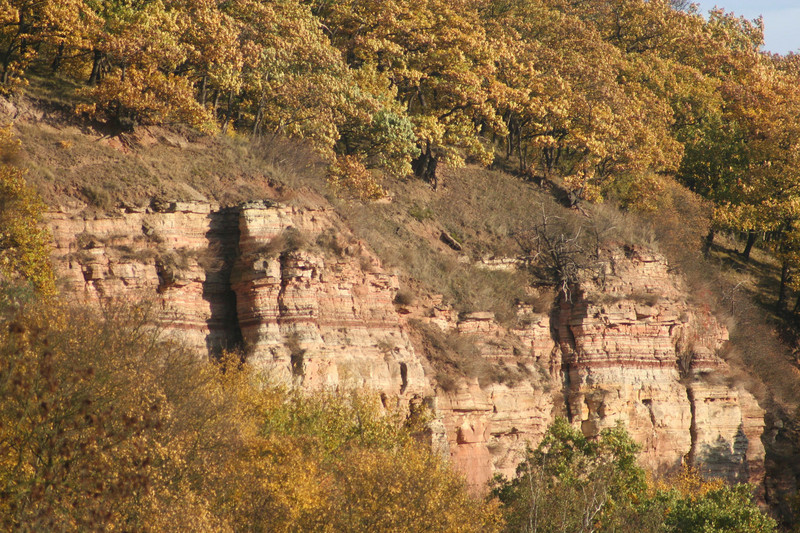
{"type": "Polygon", "coordinates": [[[238,212],[203,202],[129,208],[115,217],[51,213],[55,265],[78,301],[144,298],[202,351],[238,341],[229,279],[238,212]]]}

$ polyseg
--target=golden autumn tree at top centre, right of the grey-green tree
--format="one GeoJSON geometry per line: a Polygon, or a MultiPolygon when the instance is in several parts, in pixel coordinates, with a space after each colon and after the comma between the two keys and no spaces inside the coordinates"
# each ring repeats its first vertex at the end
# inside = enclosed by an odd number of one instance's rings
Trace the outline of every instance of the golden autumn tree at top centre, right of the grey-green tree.
{"type": "Polygon", "coordinates": [[[439,163],[488,163],[484,129],[502,131],[491,97],[494,58],[470,2],[311,2],[356,70],[379,73],[413,123],[414,172],[436,184],[439,163]]]}

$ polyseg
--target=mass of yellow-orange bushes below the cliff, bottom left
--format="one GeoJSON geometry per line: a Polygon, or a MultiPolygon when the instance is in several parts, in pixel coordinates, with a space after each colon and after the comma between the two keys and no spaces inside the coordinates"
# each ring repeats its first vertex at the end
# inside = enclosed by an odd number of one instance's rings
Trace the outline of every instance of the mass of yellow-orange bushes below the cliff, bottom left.
{"type": "Polygon", "coordinates": [[[148,307],[0,289],[3,530],[498,530],[375,394],[271,387],[164,338],[148,307]]]}

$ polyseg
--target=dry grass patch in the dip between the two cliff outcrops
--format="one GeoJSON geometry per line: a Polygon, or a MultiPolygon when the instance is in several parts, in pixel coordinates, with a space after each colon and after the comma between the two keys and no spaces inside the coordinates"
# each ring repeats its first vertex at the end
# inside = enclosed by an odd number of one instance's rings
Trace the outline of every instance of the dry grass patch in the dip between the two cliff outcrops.
{"type": "Polygon", "coordinates": [[[474,167],[449,173],[437,193],[414,179],[385,186],[392,203],[336,202],[354,233],[385,265],[444,295],[457,311],[492,311],[506,323],[516,318],[517,302],[529,298],[525,288],[536,280],[524,271],[481,268],[479,261],[520,256],[518,236],[536,224],[542,204],[579,216],[532,184],[474,167]],[[442,231],[459,241],[461,254],[441,243],[442,231]]]}

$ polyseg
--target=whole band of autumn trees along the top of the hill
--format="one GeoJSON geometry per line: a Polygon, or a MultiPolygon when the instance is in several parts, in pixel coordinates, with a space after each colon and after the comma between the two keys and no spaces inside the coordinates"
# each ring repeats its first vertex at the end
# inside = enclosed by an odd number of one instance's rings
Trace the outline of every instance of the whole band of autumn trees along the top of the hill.
{"type": "Polygon", "coordinates": [[[0,90],[74,80],[78,111],[287,135],[362,199],[376,174],[513,158],[573,202],[651,207],[677,178],[712,231],[800,265],[800,59],[674,0],[5,0],[0,90]]]}

